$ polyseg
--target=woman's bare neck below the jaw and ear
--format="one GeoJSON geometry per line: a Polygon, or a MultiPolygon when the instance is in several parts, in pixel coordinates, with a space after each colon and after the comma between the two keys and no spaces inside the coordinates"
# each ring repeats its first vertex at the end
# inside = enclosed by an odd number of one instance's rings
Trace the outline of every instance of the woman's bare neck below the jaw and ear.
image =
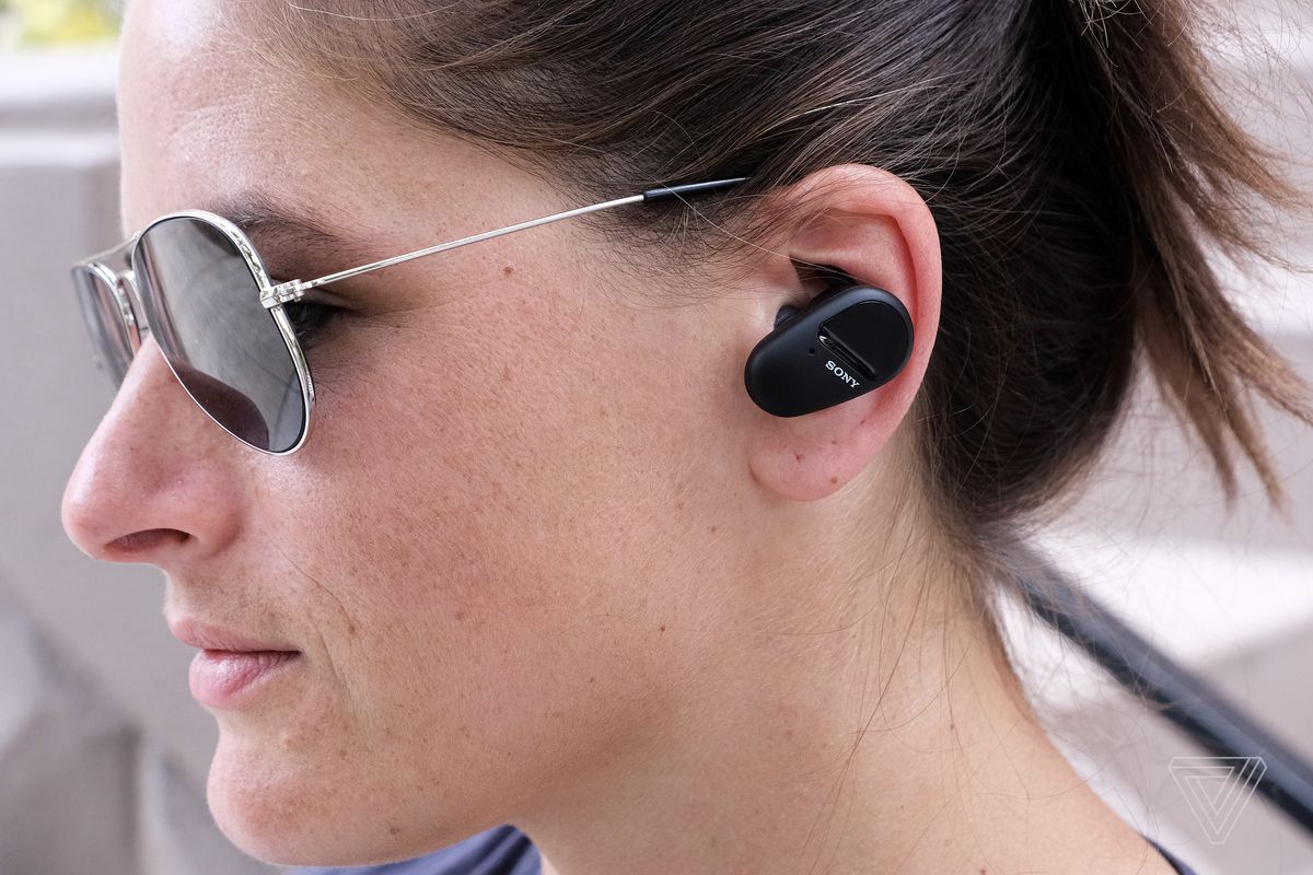
{"type": "Polygon", "coordinates": [[[1170,872],[1048,740],[969,590],[915,565],[790,619],[771,605],[823,585],[776,567],[733,622],[663,626],[702,655],[678,702],[515,820],[545,874],[1170,872]]]}

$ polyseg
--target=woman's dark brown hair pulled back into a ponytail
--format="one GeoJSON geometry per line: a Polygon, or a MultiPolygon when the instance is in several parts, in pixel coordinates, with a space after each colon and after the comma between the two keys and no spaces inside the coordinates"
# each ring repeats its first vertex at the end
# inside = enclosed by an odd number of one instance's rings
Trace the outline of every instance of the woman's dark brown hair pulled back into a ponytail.
{"type": "Polygon", "coordinates": [[[1228,505],[1230,439],[1285,504],[1242,392],[1313,424],[1308,387],[1208,256],[1266,254],[1257,205],[1296,192],[1218,106],[1180,0],[267,1],[277,49],[579,197],[750,176],[601,220],[681,260],[780,227],[756,195],[821,168],[906,180],[944,277],[918,475],[973,561],[1087,471],[1140,354],[1228,505]]]}

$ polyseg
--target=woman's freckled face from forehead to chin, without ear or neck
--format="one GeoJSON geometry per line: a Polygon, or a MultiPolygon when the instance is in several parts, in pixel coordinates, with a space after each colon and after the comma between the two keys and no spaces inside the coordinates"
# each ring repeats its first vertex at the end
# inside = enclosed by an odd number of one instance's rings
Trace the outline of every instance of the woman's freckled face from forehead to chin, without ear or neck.
{"type": "MultiPolygon", "coordinates": [[[[576,206],[227,28],[205,0],[131,5],[127,231],[259,197],[348,241],[252,232],[274,275],[309,278],[576,206]]],[[[336,291],[299,451],[222,432],[148,341],[64,497],[84,551],[165,572],[171,623],[301,651],[213,708],[211,809],[269,861],[419,854],[570,792],[714,661],[666,634],[718,610],[706,563],[767,560],[735,547],[754,493],[725,425],[751,409],[767,302],[680,299],[578,222],[336,291]]]]}

